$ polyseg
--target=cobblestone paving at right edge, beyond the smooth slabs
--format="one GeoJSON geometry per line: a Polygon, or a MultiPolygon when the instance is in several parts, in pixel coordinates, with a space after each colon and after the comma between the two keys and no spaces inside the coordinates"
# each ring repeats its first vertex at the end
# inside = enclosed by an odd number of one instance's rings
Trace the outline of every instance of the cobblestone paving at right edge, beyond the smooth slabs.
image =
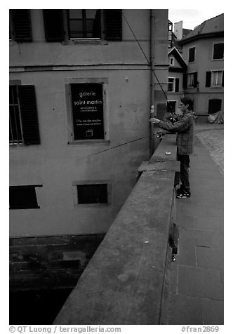
{"type": "Polygon", "coordinates": [[[220,173],[224,173],[224,125],[211,123],[197,123],[195,134],[208,149],[220,173]]]}

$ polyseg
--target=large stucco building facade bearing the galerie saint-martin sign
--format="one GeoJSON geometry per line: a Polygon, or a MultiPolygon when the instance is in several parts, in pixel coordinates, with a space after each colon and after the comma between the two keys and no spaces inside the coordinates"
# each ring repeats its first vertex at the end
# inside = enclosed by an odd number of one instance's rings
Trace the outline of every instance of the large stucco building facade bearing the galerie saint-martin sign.
{"type": "Polygon", "coordinates": [[[11,237],[107,232],[166,105],[151,64],[166,89],[168,11],[152,11],[10,11],[11,237]]]}

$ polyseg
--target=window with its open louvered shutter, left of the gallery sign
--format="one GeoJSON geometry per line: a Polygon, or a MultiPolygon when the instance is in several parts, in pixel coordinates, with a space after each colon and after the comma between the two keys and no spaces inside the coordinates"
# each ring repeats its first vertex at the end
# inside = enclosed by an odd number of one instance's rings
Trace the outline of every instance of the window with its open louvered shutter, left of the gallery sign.
{"type": "Polygon", "coordinates": [[[34,86],[10,86],[10,144],[40,144],[34,86]]]}

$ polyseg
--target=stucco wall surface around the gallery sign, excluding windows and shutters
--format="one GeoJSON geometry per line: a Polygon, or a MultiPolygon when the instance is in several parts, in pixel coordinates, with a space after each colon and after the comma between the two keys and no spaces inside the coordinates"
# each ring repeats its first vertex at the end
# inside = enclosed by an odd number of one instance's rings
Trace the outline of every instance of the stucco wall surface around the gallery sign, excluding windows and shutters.
{"type": "MultiPolygon", "coordinates": [[[[158,12],[164,20],[163,11],[158,12]]],[[[10,42],[10,80],[35,86],[41,145],[10,147],[10,185],[43,187],[36,188],[39,209],[10,211],[10,234],[105,233],[135,184],[138,166],[149,157],[149,67],[124,20],[121,42],[48,43],[41,10],[31,13],[34,41],[10,42]],[[107,80],[106,141],[68,145],[71,110],[65,85],[86,78],[107,80]],[[110,203],[74,206],[72,183],[85,180],[109,180],[110,203]]],[[[124,15],[149,58],[149,10],[126,10],[124,15]]]]}

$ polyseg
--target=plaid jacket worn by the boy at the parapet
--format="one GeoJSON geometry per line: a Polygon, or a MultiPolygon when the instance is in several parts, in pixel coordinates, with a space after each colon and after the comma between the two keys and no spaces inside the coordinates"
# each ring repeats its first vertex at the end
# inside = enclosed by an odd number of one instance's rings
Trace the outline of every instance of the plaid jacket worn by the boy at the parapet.
{"type": "Polygon", "coordinates": [[[194,114],[192,112],[187,112],[180,121],[175,123],[159,121],[158,126],[172,133],[178,133],[176,137],[178,154],[189,155],[193,152],[194,114]]]}

